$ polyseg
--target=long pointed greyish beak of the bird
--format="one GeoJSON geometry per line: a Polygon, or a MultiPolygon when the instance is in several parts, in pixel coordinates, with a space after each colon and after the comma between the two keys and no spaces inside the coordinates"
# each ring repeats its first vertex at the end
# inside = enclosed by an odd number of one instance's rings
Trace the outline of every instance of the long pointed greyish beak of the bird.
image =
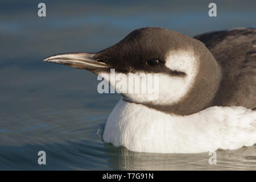
{"type": "Polygon", "coordinates": [[[109,65],[94,59],[94,55],[94,53],[85,52],[61,53],[49,56],[44,61],[80,69],[109,68],[109,65]]]}

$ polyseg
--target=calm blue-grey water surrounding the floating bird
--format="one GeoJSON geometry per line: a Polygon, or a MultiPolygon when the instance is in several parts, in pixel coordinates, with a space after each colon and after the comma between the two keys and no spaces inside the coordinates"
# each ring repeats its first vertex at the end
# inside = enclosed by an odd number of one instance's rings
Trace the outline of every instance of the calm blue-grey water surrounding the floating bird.
{"type": "Polygon", "coordinates": [[[256,146],[204,154],[148,154],[102,141],[108,115],[121,96],[97,93],[88,71],[43,63],[62,52],[97,52],[135,28],[165,27],[194,36],[255,27],[255,1],[208,2],[44,1],[0,2],[0,169],[256,169],[256,146]],[[254,5],[253,5],[254,3],[254,5]],[[38,151],[47,164],[38,164],[38,151]]]}

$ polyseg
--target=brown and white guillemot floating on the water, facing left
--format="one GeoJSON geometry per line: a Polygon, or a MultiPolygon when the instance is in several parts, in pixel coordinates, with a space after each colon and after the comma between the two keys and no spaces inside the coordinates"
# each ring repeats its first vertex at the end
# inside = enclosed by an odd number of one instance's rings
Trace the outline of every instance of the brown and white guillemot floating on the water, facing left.
{"type": "MultiPolygon", "coordinates": [[[[99,75],[159,73],[159,97],[121,93],[104,141],[132,151],[196,153],[256,143],[256,30],[190,38],[164,28],[131,32],[98,53],[63,53],[44,61],[99,75]]],[[[110,83],[111,84],[111,83],[110,83]]]]}

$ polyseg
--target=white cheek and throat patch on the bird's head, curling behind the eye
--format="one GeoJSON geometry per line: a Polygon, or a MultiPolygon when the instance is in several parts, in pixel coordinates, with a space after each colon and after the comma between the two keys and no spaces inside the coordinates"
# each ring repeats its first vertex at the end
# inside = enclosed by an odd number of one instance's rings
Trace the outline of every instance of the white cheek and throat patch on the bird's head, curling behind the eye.
{"type": "MultiPolygon", "coordinates": [[[[153,103],[170,105],[179,102],[192,87],[199,69],[198,59],[192,51],[171,51],[166,67],[173,71],[185,72],[184,77],[167,73],[101,73],[100,77],[109,82],[117,93],[139,104],[153,103]]],[[[99,79],[98,79],[99,80],[99,79]]],[[[110,89],[110,93],[111,89],[110,89]]]]}

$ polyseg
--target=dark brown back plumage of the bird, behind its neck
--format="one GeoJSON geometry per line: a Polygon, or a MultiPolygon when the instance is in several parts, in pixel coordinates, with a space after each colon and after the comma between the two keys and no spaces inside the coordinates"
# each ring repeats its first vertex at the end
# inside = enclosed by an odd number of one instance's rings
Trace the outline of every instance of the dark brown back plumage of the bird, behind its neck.
{"type": "Polygon", "coordinates": [[[211,105],[256,107],[256,29],[218,31],[195,37],[222,68],[222,81],[211,105]]]}

